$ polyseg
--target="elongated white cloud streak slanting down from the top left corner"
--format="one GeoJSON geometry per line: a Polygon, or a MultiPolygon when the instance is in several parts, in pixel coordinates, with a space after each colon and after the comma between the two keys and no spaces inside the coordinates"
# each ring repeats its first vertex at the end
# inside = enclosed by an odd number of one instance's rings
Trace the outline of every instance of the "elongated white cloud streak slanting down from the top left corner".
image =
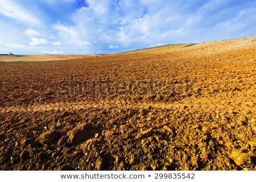
{"type": "Polygon", "coordinates": [[[0,13],[14,18],[19,22],[26,22],[29,24],[39,24],[40,21],[35,18],[34,14],[29,13],[16,3],[6,0],[0,0],[0,13]]]}

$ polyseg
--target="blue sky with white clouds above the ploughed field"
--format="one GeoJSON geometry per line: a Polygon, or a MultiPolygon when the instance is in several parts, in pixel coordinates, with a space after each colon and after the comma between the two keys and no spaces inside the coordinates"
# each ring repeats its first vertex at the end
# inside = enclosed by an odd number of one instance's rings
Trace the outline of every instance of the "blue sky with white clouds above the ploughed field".
{"type": "Polygon", "coordinates": [[[0,53],[93,54],[256,35],[256,0],[0,0],[0,53]]]}

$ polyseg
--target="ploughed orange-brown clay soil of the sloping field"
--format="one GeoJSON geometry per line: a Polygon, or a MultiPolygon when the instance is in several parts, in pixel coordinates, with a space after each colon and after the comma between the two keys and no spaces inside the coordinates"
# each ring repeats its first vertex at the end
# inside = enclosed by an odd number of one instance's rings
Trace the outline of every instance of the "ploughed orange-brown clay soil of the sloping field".
{"type": "Polygon", "coordinates": [[[0,63],[2,170],[256,170],[256,36],[0,63]]]}

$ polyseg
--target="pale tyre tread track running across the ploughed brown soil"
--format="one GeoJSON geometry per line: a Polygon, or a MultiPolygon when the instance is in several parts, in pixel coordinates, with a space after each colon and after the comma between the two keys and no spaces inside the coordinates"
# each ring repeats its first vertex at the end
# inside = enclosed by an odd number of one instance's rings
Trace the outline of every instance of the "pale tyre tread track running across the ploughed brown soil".
{"type": "MultiPolygon", "coordinates": [[[[49,103],[49,104],[42,104],[42,105],[30,105],[30,106],[18,106],[18,107],[0,107],[1,113],[26,113],[26,112],[38,112],[38,111],[51,111],[51,110],[81,110],[81,109],[110,109],[110,108],[141,108],[141,107],[156,107],[156,108],[167,108],[167,109],[179,109],[180,107],[187,107],[189,110],[200,110],[204,112],[209,112],[212,110],[216,111],[228,111],[228,110],[234,110],[238,111],[239,113],[243,110],[250,110],[250,111],[256,111],[255,108],[249,107],[249,106],[238,106],[239,101],[241,98],[236,97],[233,98],[236,102],[231,102],[233,104],[228,104],[230,102],[229,100],[225,100],[225,98],[222,98],[221,100],[218,100],[219,97],[197,97],[192,98],[190,100],[186,100],[184,102],[173,102],[172,104],[168,103],[138,103],[138,104],[127,104],[125,100],[121,100],[118,102],[59,102],[59,103],[49,103]],[[189,103],[191,102],[191,103],[189,103]]],[[[254,100],[253,97],[250,97],[251,100],[254,100]]]]}

